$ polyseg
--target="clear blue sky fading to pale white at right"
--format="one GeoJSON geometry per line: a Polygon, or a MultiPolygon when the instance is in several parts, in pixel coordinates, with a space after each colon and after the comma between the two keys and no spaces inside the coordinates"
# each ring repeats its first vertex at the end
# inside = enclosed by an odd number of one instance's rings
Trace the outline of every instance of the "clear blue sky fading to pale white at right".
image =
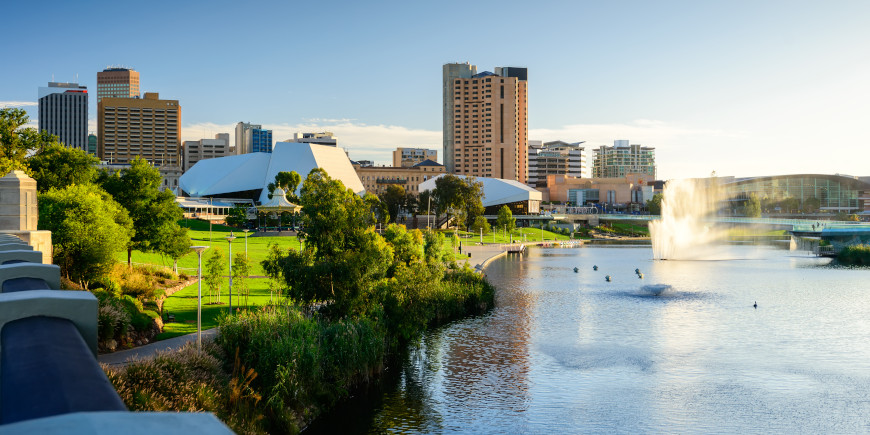
{"type": "Polygon", "coordinates": [[[441,66],[529,70],[529,138],[656,148],[658,178],[870,175],[867,1],[14,2],[0,107],[127,66],[182,138],[332,131],[442,156],[441,66]]]}

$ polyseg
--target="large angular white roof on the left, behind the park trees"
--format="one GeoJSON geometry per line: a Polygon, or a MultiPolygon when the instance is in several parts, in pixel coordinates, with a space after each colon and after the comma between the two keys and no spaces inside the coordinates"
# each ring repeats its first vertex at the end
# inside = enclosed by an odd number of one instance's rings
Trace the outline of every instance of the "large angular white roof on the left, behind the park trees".
{"type": "MultiPolygon", "coordinates": [[[[365,188],[344,150],[326,145],[278,142],[271,153],[249,153],[200,160],[179,179],[181,190],[190,196],[214,196],[262,189],[260,203],[269,201],[266,189],[281,171],[296,171],[305,177],[323,168],[330,177],[357,194],[365,188]]],[[[301,189],[300,183],[298,189],[301,189]]]]}

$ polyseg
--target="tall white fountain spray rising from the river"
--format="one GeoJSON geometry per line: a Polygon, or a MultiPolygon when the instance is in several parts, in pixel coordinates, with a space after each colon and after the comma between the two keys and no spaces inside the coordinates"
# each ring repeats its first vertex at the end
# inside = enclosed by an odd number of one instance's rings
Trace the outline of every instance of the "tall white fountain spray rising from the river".
{"type": "Polygon", "coordinates": [[[710,220],[716,215],[720,198],[715,181],[669,181],[662,199],[661,219],[649,223],[653,259],[723,259],[725,250],[719,242],[726,234],[710,220]]]}

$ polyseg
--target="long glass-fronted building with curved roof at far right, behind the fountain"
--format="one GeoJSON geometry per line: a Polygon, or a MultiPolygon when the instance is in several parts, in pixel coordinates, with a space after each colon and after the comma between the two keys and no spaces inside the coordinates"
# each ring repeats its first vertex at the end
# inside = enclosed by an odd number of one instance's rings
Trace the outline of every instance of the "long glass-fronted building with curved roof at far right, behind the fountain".
{"type": "Polygon", "coordinates": [[[725,185],[728,196],[735,201],[745,200],[754,193],[763,208],[785,206],[788,209],[816,208],[833,212],[857,211],[862,207],[858,199],[870,185],[850,177],[838,175],[781,175],[737,179],[725,185]],[[790,204],[790,205],[789,205],[790,204]]]}

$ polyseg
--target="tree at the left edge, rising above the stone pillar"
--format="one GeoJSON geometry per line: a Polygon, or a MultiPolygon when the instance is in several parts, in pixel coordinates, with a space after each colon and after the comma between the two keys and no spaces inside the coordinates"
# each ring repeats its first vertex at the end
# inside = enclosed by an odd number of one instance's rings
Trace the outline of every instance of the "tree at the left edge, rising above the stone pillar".
{"type": "Polygon", "coordinates": [[[0,176],[11,170],[30,173],[24,162],[28,154],[51,144],[57,144],[57,136],[47,131],[24,127],[30,117],[24,109],[0,109],[0,176]]]}

